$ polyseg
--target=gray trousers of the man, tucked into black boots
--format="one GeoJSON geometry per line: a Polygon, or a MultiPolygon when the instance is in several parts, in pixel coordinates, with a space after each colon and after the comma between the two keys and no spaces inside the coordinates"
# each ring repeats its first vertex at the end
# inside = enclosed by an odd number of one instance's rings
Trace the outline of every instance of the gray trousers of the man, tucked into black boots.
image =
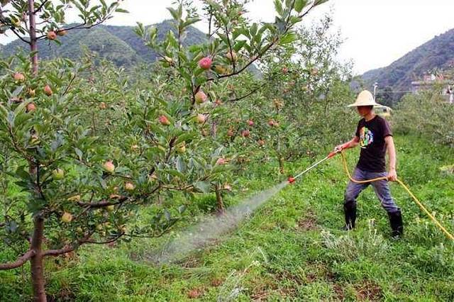
{"type": "MultiPolygon", "coordinates": [[[[361,169],[358,168],[355,168],[355,171],[353,172],[353,179],[360,181],[386,176],[387,172],[367,172],[362,171],[361,169]]],[[[377,195],[378,199],[382,203],[382,207],[388,213],[396,213],[400,211],[399,207],[392,199],[391,191],[389,191],[388,181],[386,179],[373,181],[372,183],[369,182],[366,184],[356,184],[353,181],[350,181],[348,183],[347,189],[345,190],[344,204],[353,203],[355,205],[356,198],[358,198],[361,191],[366,189],[367,186],[369,186],[370,184],[372,184],[372,187],[374,188],[375,191],[375,195],[377,195]]]]}

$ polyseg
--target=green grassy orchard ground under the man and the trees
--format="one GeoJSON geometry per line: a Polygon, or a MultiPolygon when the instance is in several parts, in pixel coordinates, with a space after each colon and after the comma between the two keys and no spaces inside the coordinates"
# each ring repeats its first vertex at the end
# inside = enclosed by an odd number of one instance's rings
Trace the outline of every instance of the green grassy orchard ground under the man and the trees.
{"type": "MultiPolygon", "coordinates": [[[[438,171],[452,164],[453,151],[408,137],[397,138],[397,151],[399,177],[454,231],[454,176],[438,171]]],[[[357,152],[348,154],[350,167],[357,152]]],[[[245,177],[249,190],[228,202],[274,185],[276,169],[267,168],[245,177]]],[[[166,237],[84,247],[79,257],[48,262],[48,293],[58,301],[454,301],[454,245],[405,191],[392,184],[405,224],[404,238],[393,240],[372,189],[359,198],[358,228],[339,230],[345,184],[340,159],[331,160],[179,264],[146,260],[166,237]]],[[[209,202],[197,201],[199,208],[209,202]]],[[[196,213],[178,228],[194,223],[196,213]]],[[[0,272],[0,301],[29,297],[26,273],[0,272]]]]}

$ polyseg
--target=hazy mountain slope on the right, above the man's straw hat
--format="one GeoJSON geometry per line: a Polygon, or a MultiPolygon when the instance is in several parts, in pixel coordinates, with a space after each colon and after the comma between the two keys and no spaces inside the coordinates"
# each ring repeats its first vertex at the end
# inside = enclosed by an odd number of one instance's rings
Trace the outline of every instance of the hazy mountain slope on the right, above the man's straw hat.
{"type": "Polygon", "coordinates": [[[452,68],[454,60],[454,29],[417,47],[388,67],[373,69],[362,74],[368,86],[377,82],[382,89],[408,91],[411,82],[421,79],[423,74],[434,69],[452,68]]]}

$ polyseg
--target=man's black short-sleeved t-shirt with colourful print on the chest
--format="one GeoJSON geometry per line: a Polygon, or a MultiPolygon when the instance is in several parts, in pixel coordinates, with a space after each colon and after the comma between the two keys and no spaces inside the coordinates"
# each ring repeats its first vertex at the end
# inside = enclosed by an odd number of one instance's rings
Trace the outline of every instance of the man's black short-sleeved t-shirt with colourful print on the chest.
{"type": "Polygon", "coordinates": [[[360,139],[360,160],[356,167],[367,172],[386,171],[386,144],[384,138],[392,135],[389,123],[380,116],[358,123],[356,136],[360,139]]]}

